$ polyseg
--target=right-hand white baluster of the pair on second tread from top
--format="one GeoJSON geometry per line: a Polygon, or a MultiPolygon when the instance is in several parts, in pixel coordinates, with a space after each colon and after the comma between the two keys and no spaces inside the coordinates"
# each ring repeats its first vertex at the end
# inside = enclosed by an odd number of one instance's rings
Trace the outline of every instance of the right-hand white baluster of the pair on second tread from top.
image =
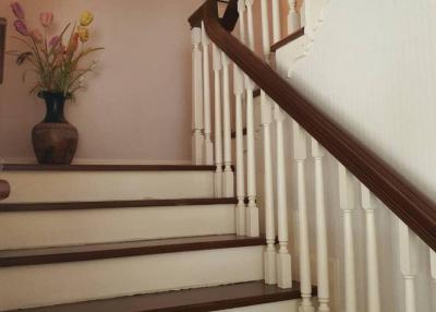
{"type": "Polygon", "coordinates": [[[234,196],[233,170],[231,168],[231,129],[230,129],[230,61],[226,53],[221,52],[222,61],[222,88],[223,88],[223,121],[225,121],[225,176],[223,195],[234,196]]]}

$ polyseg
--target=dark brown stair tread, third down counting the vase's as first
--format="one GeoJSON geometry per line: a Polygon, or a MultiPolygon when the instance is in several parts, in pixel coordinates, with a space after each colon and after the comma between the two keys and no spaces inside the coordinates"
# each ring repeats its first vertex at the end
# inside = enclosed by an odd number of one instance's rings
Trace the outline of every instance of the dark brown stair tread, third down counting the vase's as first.
{"type": "Polygon", "coordinates": [[[80,262],[171,252],[263,245],[265,239],[216,235],[0,251],[0,267],[80,262]]]}

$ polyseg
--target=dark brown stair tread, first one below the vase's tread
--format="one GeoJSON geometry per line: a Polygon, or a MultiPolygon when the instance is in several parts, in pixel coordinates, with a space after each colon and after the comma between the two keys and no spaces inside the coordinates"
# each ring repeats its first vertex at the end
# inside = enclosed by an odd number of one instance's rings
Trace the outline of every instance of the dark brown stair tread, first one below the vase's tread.
{"type": "Polygon", "coordinates": [[[101,202],[58,202],[58,203],[11,203],[0,204],[0,213],[35,212],[35,211],[80,211],[135,208],[156,206],[194,206],[194,205],[227,205],[237,204],[235,197],[223,199],[149,199],[135,201],[101,201],[101,202]]]}

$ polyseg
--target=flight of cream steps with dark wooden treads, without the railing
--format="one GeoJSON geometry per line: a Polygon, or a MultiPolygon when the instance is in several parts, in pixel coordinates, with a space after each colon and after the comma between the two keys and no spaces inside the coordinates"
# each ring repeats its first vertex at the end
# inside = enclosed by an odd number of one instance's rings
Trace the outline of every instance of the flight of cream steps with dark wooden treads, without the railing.
{"type": "Polygon", "coordinates": [[[300,290],[263,283],[265,239],[235,235],[214,171],[4,165],[0,310],[293,311],[300,290]]]}

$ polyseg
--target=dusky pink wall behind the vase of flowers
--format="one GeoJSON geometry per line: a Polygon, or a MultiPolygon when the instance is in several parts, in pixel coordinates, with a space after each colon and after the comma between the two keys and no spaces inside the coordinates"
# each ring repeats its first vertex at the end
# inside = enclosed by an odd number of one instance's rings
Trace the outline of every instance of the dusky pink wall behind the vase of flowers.
{"type": "MultiPolygon", "coordinates": [[[[66,117],[80,132],[80,161],[174,163],[191,159],[191,37],[187,16],[202,0],[22,0],[29,23],[53,11],[56,28],[95,13],[90,43],[105,46],[88,88],[68,105],[66,117]]],[[[10,1],[0,2],[10,21],[7,48],[21,47],[14,35],[10,1]]],[[[92,57],[93,58],[93,57],[92,57]]],[[[92,59],[90,59],[92,60],[92,59]]],[[[32,128],[45,113],[28,95],[22,68],[7,59],[0,86],[0,158],[33,160],[32,128]]]]}

